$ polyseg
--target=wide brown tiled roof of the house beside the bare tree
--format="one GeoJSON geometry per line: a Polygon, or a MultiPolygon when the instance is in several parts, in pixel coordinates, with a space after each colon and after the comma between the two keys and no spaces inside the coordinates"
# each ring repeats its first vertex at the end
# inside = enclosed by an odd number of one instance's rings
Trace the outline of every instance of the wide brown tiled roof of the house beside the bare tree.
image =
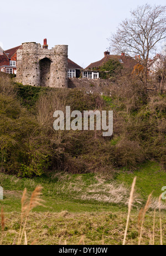
{"type": "Polygon", "coordinates": [[[129,56],[106,55],[100,61],[91,63],[85,69],[99,68],[110,59],[116,59],[116,61],[120,61],[125,67],[128,67],[128,68],[133,68],[138,63],[136,59],[133,59],[132,57],[129,57],[129,56]]]}

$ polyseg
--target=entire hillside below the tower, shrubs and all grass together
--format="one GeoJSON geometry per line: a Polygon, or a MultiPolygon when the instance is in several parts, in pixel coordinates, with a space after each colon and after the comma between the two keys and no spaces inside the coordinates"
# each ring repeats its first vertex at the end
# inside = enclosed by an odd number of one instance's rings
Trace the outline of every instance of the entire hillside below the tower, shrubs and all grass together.
{"type": "Polygon", "coordinates": [[[134,177],[126,244],[165,244],[166,97],[118,79],[121,89],[101,96],[0,75],[1,244],[122,244],[134,177]],[[113,110],[113,135],[55,131],[53,113],[66,106],[113,110]]]}

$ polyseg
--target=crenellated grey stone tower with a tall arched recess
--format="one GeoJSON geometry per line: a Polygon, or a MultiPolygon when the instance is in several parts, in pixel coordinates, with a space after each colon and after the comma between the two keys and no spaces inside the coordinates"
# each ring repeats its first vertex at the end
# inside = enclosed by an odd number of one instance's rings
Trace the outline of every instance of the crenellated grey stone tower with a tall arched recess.
{"type": "Polygon", "coordinates": [[[23,43],[17,51],[17,82],[23,85],[68,87],[68,46],[48,49],[39,43],[23,43]]]}

